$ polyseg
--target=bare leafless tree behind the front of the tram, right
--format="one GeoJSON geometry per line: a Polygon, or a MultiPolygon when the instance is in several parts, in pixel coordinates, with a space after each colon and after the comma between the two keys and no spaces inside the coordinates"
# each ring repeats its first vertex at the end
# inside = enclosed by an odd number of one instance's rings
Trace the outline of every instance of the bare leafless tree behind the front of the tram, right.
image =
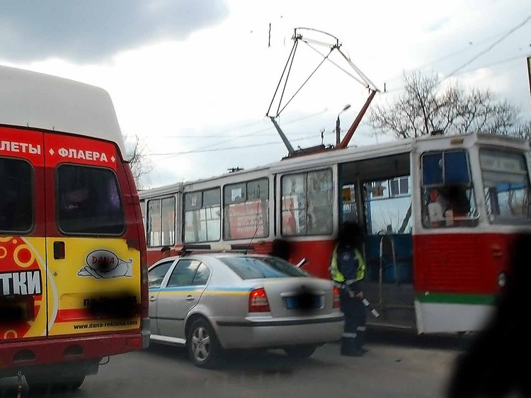
{"type": "Polygon", "coordinates": [[[391,105],[373,108],[370,123],[397,138],[416,138],[432,132],[464,134],[481,131],[513,135],[520,109],[498,101],[489,90],[442,88],[436,74],[404,74],[404,94],[391,105]]]}

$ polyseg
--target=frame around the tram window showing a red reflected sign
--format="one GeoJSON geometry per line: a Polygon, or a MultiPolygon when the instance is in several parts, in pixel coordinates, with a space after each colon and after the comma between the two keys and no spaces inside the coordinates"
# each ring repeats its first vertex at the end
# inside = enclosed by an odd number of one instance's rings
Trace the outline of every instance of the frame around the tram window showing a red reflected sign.
{"type": "MultiPolygon", "coordinates": [[[[236,241],[241,239],[252,239],[254,238],[267,238],[269,237],[269,224],[270,223],[270,215],[269,215],[269,178],[256,178],[249,181],[241,181],[238,183],[232,183],[227,184],[223,186],[223,239],[225,241],[236,241]],[[262,197],[262,193],[258,193],[258,198],[251,198],[250,197],[250,190],[249,185],[253,183],[264,183],[265,185],[265,196],[262,197]],[[239,188],[242,187],[242,192],[244,193],[241,197],[237,198],[236,200],[232,200],[232,192],[228,191],[233,188],[239,188]],[[227,191],[226,191],[227,190],[227,191]],[[228,195],[227,195],[228,194],[228,195]],[[260,203],[262,203],[265,200],[265,215],[266,220],[263,222],[263,212],[262,212],[262,226],[263,226],[263,234],[258,234],[258,229],[254,228],[249,237],[241,237],[241,238],[232,238],[227,237],[227,223],[230,222],[230,216],[229,216],[229,206],[230,205],[238,205],[238,204],[245,204],[249,201],[256,201],[259,200],[260,203]]],[[[258,225],[254,225],[253,227],[258,227],[258,225]]]]}

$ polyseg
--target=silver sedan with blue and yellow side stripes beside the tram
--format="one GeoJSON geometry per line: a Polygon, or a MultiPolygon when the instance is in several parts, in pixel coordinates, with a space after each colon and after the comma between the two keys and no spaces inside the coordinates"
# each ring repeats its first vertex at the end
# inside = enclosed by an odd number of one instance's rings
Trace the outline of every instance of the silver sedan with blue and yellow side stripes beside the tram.
{"type": "Polygon", "coordinates": [[[187,254],[149,268],[151,340],[186,346],[200,367],[233,348],[309,357],[341,338],[339,304],[330,280],[272,256],[187,254]]]}

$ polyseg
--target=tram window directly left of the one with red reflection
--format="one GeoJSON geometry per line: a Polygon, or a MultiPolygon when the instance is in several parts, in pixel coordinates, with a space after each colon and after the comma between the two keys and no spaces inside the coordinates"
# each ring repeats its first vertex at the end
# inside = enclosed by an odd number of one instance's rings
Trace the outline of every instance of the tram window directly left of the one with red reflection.
{"type": "Polygon", "coordinates": [[[185,193],[184,241],[219,241],[221,238],[221,194],[219,188],[185,193]]]}

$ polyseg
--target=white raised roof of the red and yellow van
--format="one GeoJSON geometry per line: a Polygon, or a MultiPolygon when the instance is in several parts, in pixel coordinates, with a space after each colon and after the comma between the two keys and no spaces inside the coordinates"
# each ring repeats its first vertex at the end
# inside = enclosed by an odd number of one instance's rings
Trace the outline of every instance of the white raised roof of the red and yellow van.
{"type": "Polygon", "coordinates": [[[79,81],[0,66],[0,124],[125,144],[107,91],[79,81]]]}

